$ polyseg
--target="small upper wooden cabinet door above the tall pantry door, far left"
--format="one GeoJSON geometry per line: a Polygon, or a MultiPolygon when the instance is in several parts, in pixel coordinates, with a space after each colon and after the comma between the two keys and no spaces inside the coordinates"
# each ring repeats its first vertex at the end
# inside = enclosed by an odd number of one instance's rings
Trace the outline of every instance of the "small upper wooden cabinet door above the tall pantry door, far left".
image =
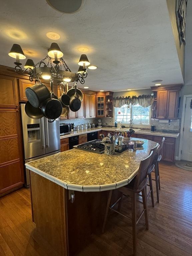
{"type": "Polygon", "coordinates": [[[18,91],[15,77],[0,75],[0,108],[18,108],[18,91]]]}

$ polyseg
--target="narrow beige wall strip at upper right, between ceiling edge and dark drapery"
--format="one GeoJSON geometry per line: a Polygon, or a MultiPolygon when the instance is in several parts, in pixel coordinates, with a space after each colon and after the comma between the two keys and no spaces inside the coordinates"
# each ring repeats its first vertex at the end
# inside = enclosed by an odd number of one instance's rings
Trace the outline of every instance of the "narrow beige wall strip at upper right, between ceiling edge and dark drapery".
{"type": "MultiPolygon", "coordinates": [[[[191,1],[188,1],[191,2],[191,1]]],[[[180,39],[179,39],[179,32],[177,28],[177,15],[176,15],[176,9],[177,9],[177,0],[167,0],[167,8],[169,11],[169,17],[171,21],[173,36],[175,39],[175,45],[177,49],[177,54],[179,58],[179,63],[181,67],[181,72],[183,76],[183,80],[185,77],[185,46],[184,44],[180,45],[180,39]]],[[[188,8],[188,6],[187,6],[188,8]]]]}

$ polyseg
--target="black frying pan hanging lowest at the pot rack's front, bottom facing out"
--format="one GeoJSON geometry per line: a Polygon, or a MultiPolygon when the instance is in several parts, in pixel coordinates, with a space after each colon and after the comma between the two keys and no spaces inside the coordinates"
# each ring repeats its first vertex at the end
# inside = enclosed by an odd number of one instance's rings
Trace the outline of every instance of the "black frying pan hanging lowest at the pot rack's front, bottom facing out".
{"type": "Polygon", "coordinates": [[[48,119],[57,119],[62,113],[62,104],[55,98],[53,93],[53,81],[50,81],[51,84],[51,98],[47,99],[42,104],[42,113],[48,119]]]}

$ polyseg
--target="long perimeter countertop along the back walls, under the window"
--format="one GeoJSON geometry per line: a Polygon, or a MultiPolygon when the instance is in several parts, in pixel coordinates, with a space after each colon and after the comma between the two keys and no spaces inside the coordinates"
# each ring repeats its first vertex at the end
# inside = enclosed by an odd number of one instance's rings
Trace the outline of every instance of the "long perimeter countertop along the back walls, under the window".
{"type": "MultiPolygon", "coordinates": [[[[116,127],[102,127],[102,128],[91,128],[91,129],[87,129],[87,130],[79,130],[79,131],[74,131],[70,134],[66,134],[66,135],[61,135],[60,138],[69,138],[72,137],[74,135],[81,135],[81,134],[85,134],[85,133],[89,133],[89,132],[93,132],[93,131],[127,131],[129,130],[129,128],[116,128],[116,127]]],[[[172,137],[172,138],[178,138],[179,137],[179,133],[167,133],[167,132],[160,132],[160,131],[155,131],[152,132],[150,130],[142,130],[142,129],[134,129],[135,133],[137,134],[148,134],[148,135],[156,135],[156,136],[164,136],[164,137],[172,137]]]]}

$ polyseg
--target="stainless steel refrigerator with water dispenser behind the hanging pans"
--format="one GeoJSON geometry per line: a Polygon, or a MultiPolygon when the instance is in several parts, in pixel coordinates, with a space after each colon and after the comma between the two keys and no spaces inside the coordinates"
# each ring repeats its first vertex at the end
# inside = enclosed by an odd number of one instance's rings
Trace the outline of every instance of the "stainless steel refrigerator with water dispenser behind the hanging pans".
{"type": "MultiPolygon", "coordinates": [[[[25,163],[60,152],[59,119],[32,119],[25,113],[25,104],[21,104],[25,163]],[[51,121],[51,120],[50,120],[51,121]]],[[[25,186],[29,187],[29,170],[25,172],[25,186]]]]}

